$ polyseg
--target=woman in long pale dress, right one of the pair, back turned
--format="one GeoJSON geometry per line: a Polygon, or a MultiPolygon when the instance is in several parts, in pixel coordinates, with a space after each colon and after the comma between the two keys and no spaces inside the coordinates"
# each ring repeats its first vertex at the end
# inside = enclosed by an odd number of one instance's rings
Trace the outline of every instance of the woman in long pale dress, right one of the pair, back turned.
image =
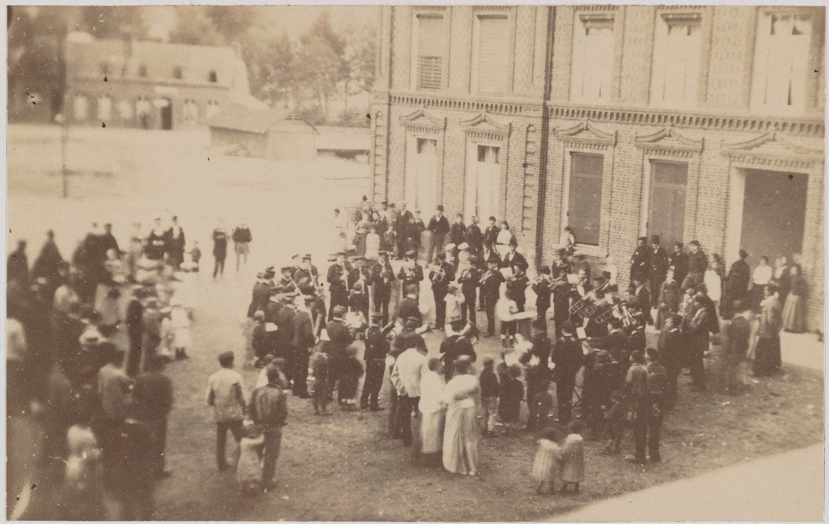
{"type": "Polygon", "coordinates": [[[481,386],[473,375],[469,357],[455,361],[455,374],[444,388],[446,427],[444,429],[444,468],[450,473],[478,474],[478,418],[475,395],[481,386]]]}

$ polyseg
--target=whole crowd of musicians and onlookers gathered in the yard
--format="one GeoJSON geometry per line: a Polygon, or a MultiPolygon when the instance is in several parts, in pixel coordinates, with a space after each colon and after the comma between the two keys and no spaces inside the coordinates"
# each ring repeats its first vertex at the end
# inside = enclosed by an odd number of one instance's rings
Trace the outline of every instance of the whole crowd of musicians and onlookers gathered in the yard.
{"type": "MultiPolygon", "coordinates": [[[[176,217],[168,228],[156,219],[148,235],[140,229],[126,251],[111,226],[93,225],[70,261],[51,232],[31,270],[25,243],[9,257],[10,414],[40,406],[44,455],[60,459],[49,466],[64,479],[62,518],[101,520],[105,485],[121,517],[146,520],[154,482],[169,474],[173,395],[163,370],[187,359],[193,311],[180,284],[197,278],[201,251],[196,242],[186,250],[176,217]]],[[[531,472],[537,491],[578,491],[583,434],[606,439],[605,453],[618,454],[632,427],[630,459],[658,462],[662,421],[684,369],[693,391],[718,376],[722,391],[737,395],[743,361],[753,361],[755,375],[773,375],[781,329],[805,329],[807,285],[797,264],[780,259],[772,269],[763,258],[751,274],[741,250],[725,274],[721,257],[709,263],[696,240],[688,252],[676,243],[668,254],[657,235],[651,245],[639,238],[630,285],[619,289],[613,258],[596,271],[569,228],[532,279],[535,268],[507,221],[494,216],[483,229],[459,213],[450,224],[437,206],[424,226],[403,203],[375,209],[364,197],[352,216],[335,211],[332,235],[336,252],[324,274],[312,255],[294,255],[279,274],[274,266],[257,274],[247,309],[253,365],[261,369],[255,388],[246,391],[234,352],[219,355],[220,369],[207,380],[216,466],[230,468],[230,431],[245,495],[274,487],[286,394],[326,416],[335,391],[343,411],[388,409],[390,438],[451,473],[479,474],[482,437],[531,431],[540,437],[531,472]],[[646,342],[648,324],[659,332],[655,347],[646,342]],[[424,338],[431,330],[443,332],[437,347],[424,338]],[[478,369],[476,345],[497,334],[501,347],[478,369]]],[[[246,264],[250,229],[216,228],[214,279],[224,273],[228,239],[237,271],[246,264]]]]}

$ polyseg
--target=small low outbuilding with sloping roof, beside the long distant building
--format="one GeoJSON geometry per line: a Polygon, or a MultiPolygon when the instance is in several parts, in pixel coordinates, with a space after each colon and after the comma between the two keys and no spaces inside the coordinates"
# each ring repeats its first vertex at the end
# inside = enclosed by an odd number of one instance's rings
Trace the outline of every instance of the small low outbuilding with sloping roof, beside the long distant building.
{"type": "Polygon", "coordinates": [[[225,154],[279,160],[317,156],[317,129],[288,109],[230,104],[207,124],[211,146],[225,154]]]}

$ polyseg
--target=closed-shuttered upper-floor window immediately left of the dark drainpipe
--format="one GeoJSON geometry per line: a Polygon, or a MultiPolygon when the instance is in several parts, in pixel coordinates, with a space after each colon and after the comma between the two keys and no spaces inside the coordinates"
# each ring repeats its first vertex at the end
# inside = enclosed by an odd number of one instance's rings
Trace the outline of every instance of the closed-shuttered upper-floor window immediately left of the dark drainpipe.
{"type": "Polygon", "coordinates": [[[497,95],[509,81],[509,24],[507,17],[478,17],[477,92],[497,95]]]}

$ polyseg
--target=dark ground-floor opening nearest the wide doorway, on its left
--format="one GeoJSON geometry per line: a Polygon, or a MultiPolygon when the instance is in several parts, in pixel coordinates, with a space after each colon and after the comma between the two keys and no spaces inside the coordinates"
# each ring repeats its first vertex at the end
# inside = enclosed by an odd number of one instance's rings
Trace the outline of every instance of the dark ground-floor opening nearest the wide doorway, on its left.
{"type": "Polygon", "coordinates": [[[659,235],[662,246],[670,252],[682,241],[685,227],[685,197],[688,164],[651,162],[650,206],[647,210],[647,235],[659,235]]]}

